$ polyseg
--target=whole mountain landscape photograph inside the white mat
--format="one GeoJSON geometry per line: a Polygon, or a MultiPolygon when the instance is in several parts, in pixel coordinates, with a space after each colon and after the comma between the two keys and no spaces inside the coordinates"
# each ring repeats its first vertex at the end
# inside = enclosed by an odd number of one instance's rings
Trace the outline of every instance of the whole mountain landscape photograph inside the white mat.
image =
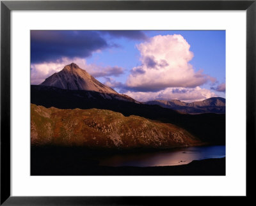
{"type": "Polygon", "coordinates": [[[225,175],[225,31],[30,38],[31,175],[225,175]]]}

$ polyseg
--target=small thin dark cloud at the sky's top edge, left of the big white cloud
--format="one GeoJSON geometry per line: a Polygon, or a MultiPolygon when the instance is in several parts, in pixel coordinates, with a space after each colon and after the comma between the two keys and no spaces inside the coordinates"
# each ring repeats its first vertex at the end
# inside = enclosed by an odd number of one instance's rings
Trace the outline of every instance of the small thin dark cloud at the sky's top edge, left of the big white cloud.
{"type": "Polygon", "coordinates": [[[132,40],[147,40],[148,37],[146,36],[143,31],[137,31],[137,30],[113,30],[113,31],[101,31],[102,33],[107,33],[111,36],[115,37],[124,37],[129,38],[132,40]]]}

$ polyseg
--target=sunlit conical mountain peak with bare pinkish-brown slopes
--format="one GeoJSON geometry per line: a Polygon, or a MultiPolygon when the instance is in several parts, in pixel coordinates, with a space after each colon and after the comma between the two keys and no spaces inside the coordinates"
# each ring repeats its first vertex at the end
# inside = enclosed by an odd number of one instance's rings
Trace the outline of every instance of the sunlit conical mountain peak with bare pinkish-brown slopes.
{"type": "Polygon", "coordinates": [[[63,70],[46,78],[40,85],[68,90],[86,90],[118,94],[115,90],[100,83],[85,70],[79,68],[75,63],[68,64],[63,70]]]}

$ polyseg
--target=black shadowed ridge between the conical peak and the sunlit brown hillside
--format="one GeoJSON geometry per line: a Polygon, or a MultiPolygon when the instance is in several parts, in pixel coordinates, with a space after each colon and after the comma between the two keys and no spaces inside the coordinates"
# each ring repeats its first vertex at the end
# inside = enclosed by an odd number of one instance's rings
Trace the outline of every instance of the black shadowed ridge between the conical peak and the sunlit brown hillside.
{"type": "Polygon", "coordinates": [[[67,90],[43,85],[31,85],[31,103],[46,108],[106,109],[120,112],[126,117],[138,115],[159,122],[175,124],[203,142],[225,144],[225,114],[180,114],[159,105],[138,103],[122,94],[67,90]]]}

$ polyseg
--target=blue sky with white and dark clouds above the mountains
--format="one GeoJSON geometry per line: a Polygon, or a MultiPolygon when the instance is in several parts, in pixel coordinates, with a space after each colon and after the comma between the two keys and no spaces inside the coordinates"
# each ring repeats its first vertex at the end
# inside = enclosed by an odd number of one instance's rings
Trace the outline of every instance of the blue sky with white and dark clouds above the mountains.
{"type": "Polygon", "coordinates": [[[31,31],[31,84],[70,63],[138,101],[225,98],[225,31],[31,31]]]}

